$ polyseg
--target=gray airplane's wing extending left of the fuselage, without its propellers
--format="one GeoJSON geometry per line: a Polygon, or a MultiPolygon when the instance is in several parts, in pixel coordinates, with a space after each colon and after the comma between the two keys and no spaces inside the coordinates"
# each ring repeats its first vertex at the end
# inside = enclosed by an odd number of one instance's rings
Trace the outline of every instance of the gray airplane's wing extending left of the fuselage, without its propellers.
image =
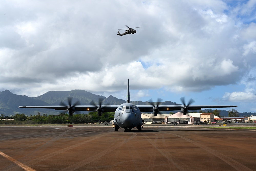
{"type": "MultiPolygon", "coordinates": [[[[40,108],[40,109],[54,109],[54,110],[66,110],[68,106],[19,106],[19,108],[40,108]]],[[[115,112],[118,105],[105,105],[104,112],[115,112]]],[[[97,106],[93,105],[77,105],[76,111],[96,111],[97,106]]]]}

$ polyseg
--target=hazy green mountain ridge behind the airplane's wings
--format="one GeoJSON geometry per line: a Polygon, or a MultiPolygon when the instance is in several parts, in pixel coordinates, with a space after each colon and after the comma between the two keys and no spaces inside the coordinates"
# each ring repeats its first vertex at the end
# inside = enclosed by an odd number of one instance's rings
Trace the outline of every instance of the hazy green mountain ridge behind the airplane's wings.
{"type": "MultiPolygon", "coordinates": [[[[60,102],[68,105],[67,98],[73,97],[71,100],[71,104],[80,102],[80,105],[98,105],[99,101],[102,101],[102,105],[121,105],[125,103],[126,100],[118,99],[114,96],[104,97],[99,96],[85,90],[71,90],[71,91],[48,91],[38,97],[27,97],[25,95],[17,95],[13,94],[9,90],[5,90],[0,92],[0,114],[15,115],[16,113],[24,113],[25,115],[37,115],[38,112],[41,114],[48,115],[58,115],[60,112],[58,110],[53,109],[28,109],[28,108],[18,108],[18,106],[49,106],[49,105],[60,105],[60,102]]],[[[131,101],[135,105],[150,105],[149,102],[142,101],[131,101]]],[[[165,101],[161,102],[161,105],[180,105],[179,103],[165,101]]],[[[203,111],[207,111],[208,109],[204,109],[203,111]]],[[[213,109],[214,110],[214,109],[213,109]]],[[[167,111],[166,113],[169,113],[167,111]]],[[[177,112],[177,111],[171,111],[177,112]]],[[[87,113],[87,111],[81,111],[81,113],[87,113]]],[[[165,113],[165,112],[163,112],[165,113]]],[[[240,116],[248,116],[255,115],[256,113],[240,113],[240,116]]],[[[228,112],[226,110],[222,110],[222,116],[227,116],[228,112]]]]}

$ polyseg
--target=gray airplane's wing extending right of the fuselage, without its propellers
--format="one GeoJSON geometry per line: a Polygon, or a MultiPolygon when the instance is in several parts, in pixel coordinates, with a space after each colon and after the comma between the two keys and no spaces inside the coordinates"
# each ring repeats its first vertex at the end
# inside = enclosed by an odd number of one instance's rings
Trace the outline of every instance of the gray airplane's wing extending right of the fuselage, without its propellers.
{"type": "MultiPolygon", "coordinates": [[[[141,112],[152,112],[153,106],[151,105],[137,105],[141,112]]],[[[171,110],[181,110],[183,105],[159,105],[159,111],[171,111],[171,110]]],[[[188,110],[201,110],[204,108],[233,108],[237,106],[207,106],[207,105],[190,105],[188,110]]]]}

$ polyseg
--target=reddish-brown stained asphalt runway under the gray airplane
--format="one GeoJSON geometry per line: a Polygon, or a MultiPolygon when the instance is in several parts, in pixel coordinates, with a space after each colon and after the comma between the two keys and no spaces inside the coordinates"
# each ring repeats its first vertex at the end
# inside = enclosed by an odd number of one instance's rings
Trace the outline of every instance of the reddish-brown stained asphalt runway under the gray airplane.
{"type": "Polygon", "coordinates": [[[256,130],[0,126],[0,170],[256,170],[256,130]]]}

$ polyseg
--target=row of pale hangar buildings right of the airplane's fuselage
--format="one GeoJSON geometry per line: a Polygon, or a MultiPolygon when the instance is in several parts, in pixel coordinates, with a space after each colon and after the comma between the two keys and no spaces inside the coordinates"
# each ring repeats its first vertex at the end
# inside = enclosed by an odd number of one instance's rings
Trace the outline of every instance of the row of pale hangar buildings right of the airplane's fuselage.
{"type": "Polygon", "coordinates": [[[162,122],[166,124],[171,121],[176,121],[179,124],[194,124],[196,121],[202,122],[213,122],[213,121],[223,121],[218,116],[214,116],[213,113],[187,113],[183,115],[181,112],[177,112],[173,115],[170,114],[158,114],[157,116],[152,115],[152,113],[141,113],[142,121],[146,124],[151,124],[153,121],[162,122]]]}

